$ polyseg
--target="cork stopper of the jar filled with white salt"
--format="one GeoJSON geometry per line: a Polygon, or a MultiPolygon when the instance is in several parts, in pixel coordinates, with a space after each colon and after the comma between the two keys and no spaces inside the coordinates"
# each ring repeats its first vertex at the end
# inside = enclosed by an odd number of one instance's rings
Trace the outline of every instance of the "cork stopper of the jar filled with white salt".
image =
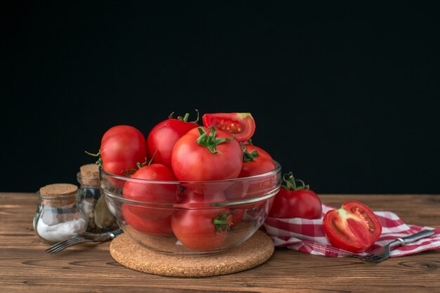
{"type": "Polygon", "coordinates": [[[63,207],[77,201],[78,187],[69,183],[54,183],[39,189],[41,200],[48,205],[63,207]]]}

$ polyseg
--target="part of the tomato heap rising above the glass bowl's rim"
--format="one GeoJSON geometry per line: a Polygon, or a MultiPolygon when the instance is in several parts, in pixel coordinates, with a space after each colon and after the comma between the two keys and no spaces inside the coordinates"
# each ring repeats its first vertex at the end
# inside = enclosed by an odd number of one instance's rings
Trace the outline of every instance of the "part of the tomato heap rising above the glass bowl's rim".
{"type": "Polygon", "coordinates": [[[148,180],[211,181],[275,169],[271,155],[250,144],[255,131],[250,113],[205,114],[202,126],[197,120],[188,122],[188,117],[187,114],[174,119],[170,115],[153,127],[146,140],[133,126],[108,129],[99,152],[104,171],[125,176],[136,174],[134,178],[148,180]],[[139,164],[145,169],[157,168],[156,177],[141,176],[139,164]]]}

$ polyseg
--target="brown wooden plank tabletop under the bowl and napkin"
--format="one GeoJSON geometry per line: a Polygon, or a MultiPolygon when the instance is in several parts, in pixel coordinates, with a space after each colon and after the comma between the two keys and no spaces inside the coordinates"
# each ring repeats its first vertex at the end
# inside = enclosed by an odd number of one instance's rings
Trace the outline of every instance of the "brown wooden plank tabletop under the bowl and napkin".
{"type": "MultiPolygon", "coordinates": [[[[339,206],[358,200],[406,223],[440,228],[440,195],[320,195],[339,206]]],[[[440,249],[382,263],[276,249],[261,266],[209,278],[131,271],[112,259],[109,243],[44,252],[32,228],[33,193],[0,193],[0,292],[440,292],[440,249]]]]}

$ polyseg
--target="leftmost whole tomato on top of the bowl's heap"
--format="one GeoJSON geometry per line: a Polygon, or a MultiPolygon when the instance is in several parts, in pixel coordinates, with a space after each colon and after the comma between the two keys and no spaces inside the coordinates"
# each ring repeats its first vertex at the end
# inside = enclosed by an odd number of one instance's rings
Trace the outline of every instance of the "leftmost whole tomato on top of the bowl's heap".
{"type": "Polygon", "coordinates": [[[104,171],[123,176],[124,171],[135,169],[136,163],[147,159],[145,138],[133,126],[113,126],[103,135],[99,153],[104,171]]]}

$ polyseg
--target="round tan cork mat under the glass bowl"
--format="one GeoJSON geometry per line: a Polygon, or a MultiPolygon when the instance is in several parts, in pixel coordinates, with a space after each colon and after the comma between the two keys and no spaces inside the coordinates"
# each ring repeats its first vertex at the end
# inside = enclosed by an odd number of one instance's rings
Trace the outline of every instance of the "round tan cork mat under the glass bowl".
{"type": "Polygon", "coordinates": [[[273,254],[270,237],[257,231],[238,247],[209,256],[172,256],[141,247],[127,234],[110,243],[115,261],[135,271],[174,277],[207,277],[245,271],[259,266],[273,254]]]}

